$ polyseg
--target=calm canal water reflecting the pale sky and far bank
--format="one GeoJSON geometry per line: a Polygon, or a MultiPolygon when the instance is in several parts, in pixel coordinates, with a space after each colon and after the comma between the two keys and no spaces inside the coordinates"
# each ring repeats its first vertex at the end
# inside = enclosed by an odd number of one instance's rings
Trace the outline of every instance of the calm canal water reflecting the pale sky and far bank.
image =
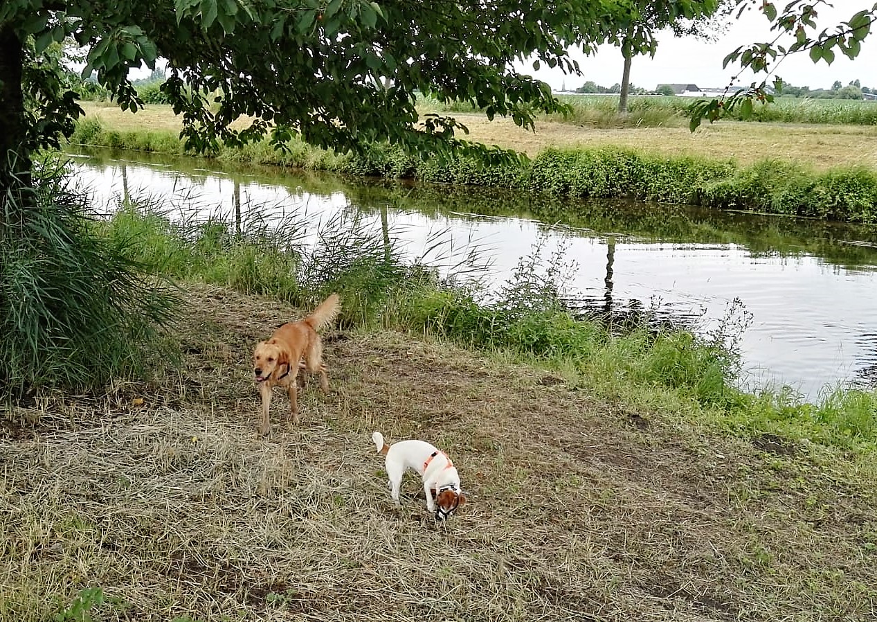
{"type": "MultiPolygon", "coordinates": [[[[682,205],[560,200],[502,190],[362,182],[282,168],[105,150],[72,155],[113,211],[150,197],[171,218],[242,222],[339,216],[383,222],[406,251],[446,271],[474,251],[496,288],[534,248],[567,265],[571,304],[623,317],[652,309],[700,332],[744,326],[747,389],[805,397],[877,375],[877,230],[682,205]],[[437,245],[437,240],[439,244],[437,245]]],[[[315,230],[314,225],[310,231],[315,230]]]]}

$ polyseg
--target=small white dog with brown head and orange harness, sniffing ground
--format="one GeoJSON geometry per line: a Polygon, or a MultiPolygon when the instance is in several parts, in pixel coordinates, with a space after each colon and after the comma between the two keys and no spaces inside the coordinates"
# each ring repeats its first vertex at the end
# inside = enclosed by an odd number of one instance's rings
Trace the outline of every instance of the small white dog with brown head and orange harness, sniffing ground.
{"type": "Polygon", "coordinates": [[[400,440],[392,447],[383,440],[383,434],[372,434],[374,447],[387,456],[386,468],[391,495],[399,506],[399,489],[406,469],[417,471],[424,478],[426,509],[435,512],[436,520],[450,518],[453,511],[466,503],[466,495],[460,490],[460,475],[453,462],[444,453],[424,440],[400,440]],[[435,499],[432,492],[435,491],[435,499]],[[438,505],[437,505],[438,503],[438,505]]]}

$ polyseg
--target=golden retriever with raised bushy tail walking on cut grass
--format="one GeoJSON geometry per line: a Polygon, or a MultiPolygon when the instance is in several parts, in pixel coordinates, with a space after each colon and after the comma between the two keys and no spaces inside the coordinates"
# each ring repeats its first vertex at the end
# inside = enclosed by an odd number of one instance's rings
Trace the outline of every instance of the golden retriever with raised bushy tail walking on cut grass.
{"type": "Polygon", "coordinates": [[[329,392],[329,378],[323,364],[323,343],[317,331],[329,325],[341,308],[338,294],[326,298],[307,318],[288,322],[278,328],[271,339],[260,341],[253,352],[253,374],[262,396],[262,421],[259,432],[267,435],[268,410],[271,407],[271,390],[275,384],[289,391],[289,413],[298,424],[298,387],[296,378],[299,368],[320,375],[320,388],[329,392]]]}

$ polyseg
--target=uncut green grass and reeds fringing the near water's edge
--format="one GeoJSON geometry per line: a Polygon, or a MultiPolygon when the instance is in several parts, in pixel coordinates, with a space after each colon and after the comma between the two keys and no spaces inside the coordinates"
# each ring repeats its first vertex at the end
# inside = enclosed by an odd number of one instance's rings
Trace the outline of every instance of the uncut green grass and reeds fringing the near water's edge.
{"type": "MultiPolygon", "coordinates": [[[[723,329],[695,336],[647,322],[618,327],[573,318],[560,304],[571,266],[537,247],[489,302],[480,290],[443,282],[422,261],[406,262],[395,244],[359,220],[325,225],[315,247],[296,242],[303,225],[285,222],[235,232],[218,219],[171,224],[154,206],[119,211],[105,225],[111,240],[131,240],[132,260],[164,275],[208,282],[308,307],[331,291],[345,300],[342,325],[393,328],[505,352],[556,368],[605,396],[652,408],[665,404],[727,432],[779,434],[828,447],[877,447],[877,395],[835,390],[816,404],[788,390],[736,388],[736,340],[745,310],[732,308],[723,329]]],[[[477,256],[467,268],[477,273],[477,256]]],[[[463,267],[458,268],[458,272],[463,267]]]]}

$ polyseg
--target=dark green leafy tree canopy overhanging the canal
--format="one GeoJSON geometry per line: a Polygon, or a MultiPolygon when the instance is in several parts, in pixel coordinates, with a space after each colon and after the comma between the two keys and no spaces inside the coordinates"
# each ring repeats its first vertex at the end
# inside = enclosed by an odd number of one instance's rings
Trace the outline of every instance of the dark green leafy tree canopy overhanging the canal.
{"type": "MultiPolygon", "coordinates": [[[[667,10],[693,16],[715,2],[675,0],[667,10]]],[[[33,65],[50,44],[72,37],[86,50],[83,76],[94,73],[123,109],[141,105],[129,69],[167,59],[163,89],[182,113],[189,147],[199,150],[215,147],[217,139],[235,143],[270,132],[275,141],[297,133],[340,150],[387,139],[432,153],[462,147],[454,138],[460,125],[437,115],[419,119],[418,92],[531,128],[535,112],[563,106],[545,83],[520,74],[513,63],[576,71],[567,47],[591,50],[623,32],[638,4],[4,0],[0,37],[18,37],[33,65]],[[233,130],[240,116],[253,121],[233,130]]],[[[58,84],[25,89],[42,106],[35,118],[48,119],[31,133],[28,147],[51,144],[81,114],[58,84]]]]}

